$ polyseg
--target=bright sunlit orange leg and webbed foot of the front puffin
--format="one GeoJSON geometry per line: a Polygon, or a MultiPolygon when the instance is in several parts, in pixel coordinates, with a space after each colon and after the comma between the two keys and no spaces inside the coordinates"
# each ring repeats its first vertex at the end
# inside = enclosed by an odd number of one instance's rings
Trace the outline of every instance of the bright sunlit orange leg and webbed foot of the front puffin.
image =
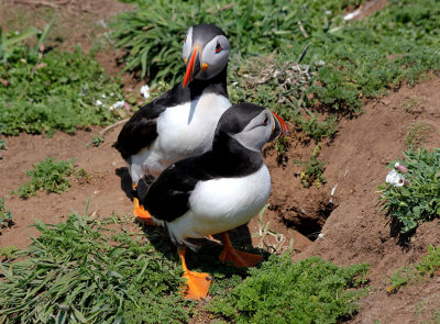
{"type": "Polygon", "coordinates": [[[179,255],[182,267],[184,268],[183,278],[186,279],[186,287],[183,288],[184,297],[190,300],[202,301],[211,284],[211,277],[208,273],[199,273],[189,271],[185,261],[186,247],[178,247],[177,253],[179,255]]]}

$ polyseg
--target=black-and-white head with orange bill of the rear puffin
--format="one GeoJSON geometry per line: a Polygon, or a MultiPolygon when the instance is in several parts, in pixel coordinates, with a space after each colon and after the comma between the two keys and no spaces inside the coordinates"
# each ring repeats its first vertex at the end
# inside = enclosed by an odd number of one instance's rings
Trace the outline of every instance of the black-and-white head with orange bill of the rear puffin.
{"type": "Polygon", "coordinates": [[[194,79],[210,79],[228,64],[230,45],[222,30],[211,24],[191,26],[185,37],[183,56],[186,65],[183,87],[194,79]]]}

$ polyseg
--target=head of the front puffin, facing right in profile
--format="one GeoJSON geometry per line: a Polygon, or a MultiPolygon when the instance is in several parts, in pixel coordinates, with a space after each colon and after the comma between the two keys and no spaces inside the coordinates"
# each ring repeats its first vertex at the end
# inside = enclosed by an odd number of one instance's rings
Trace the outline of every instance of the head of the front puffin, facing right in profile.
{"type": "Polygon", "coordinates": [[[216,134],[224,132],[244,147],[261,152],[264,144],[287,133],[286,123],[268,109],[248,102],[232,105],[220,118],[216,134]]]}

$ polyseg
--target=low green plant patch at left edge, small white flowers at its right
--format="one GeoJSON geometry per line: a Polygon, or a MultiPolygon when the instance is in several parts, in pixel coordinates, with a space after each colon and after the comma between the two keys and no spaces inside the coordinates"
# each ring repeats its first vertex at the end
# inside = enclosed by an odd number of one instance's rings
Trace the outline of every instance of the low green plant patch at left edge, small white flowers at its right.
{"type": "Polygon", "coordinates": [[[16,42],[4,53],[0,62],[0,134],[73,133],[119,118],[110,108],[122,98],[121,86],[105,75],[92,53],[85,55],[79,48],[42,53],[37,46],[16,42]]]}

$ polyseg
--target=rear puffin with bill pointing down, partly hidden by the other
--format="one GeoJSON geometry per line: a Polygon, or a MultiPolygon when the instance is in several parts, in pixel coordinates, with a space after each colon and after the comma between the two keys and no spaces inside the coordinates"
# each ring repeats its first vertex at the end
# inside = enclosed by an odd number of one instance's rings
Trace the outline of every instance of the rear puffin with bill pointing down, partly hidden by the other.
{"type": "MultiPolygon", "coordinates": [[[[198,24],[188,30],[182,82],[135,112],[113,145],[129,165],[134,192],[145,176],[152,181],[173,163],[211,148],[218,121],[231,107],[229,53],[229,40],[220,27],[198,24]]],[[[153,225],[138,198],[133,201],[134,215],[153,225]]]]}

